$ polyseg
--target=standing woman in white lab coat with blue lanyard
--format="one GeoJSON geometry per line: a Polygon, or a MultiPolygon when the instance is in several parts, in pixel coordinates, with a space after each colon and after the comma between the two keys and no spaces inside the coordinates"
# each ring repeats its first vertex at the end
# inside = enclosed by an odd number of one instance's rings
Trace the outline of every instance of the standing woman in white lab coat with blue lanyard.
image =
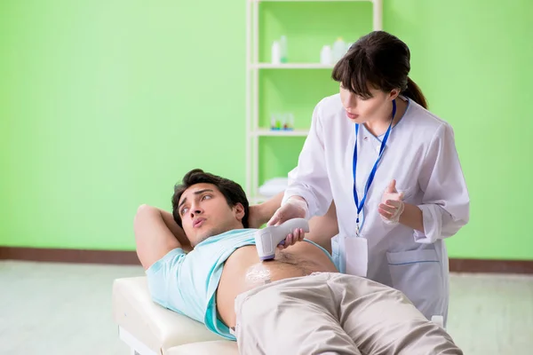
{"type": "Polygon", "coordinates": [[[410,50],[395,36],[375,31],[352,45],[332,72],[340,93],[315,106],[268,225],[336,215],[340,272],[397,288],[426,318],[446,322],[442,240],[468,222],[469,197],[453,130],[426,110],[409,72],[410,50]]]}

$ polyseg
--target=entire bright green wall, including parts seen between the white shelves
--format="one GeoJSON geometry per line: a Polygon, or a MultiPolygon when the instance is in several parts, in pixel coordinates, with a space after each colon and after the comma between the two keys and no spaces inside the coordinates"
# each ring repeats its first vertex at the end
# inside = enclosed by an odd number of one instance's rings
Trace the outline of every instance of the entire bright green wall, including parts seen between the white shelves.
{"type": "MultiPolygon", "coordinates": [[[[132,249],[139,204],[169,209],[187,170],[244,183],[244,0],[46,3],[0,2],[0,245],[132,249]]],[[[456,131],[472,213],[450,256],[533,259],[533,5],[384,3],[384,28],[410,45],[412,78],[456,131]]],[[[369,4],[265,10],[265,60],[281,34],[290,59],[315,61],[323,43],[370,30],[369,4]]],[[[306,127],[336,90],[326,70],[261,75],[264,123],[274,107],[306,127]]],[[[276,139],[262,139],[261,180],[298,158],[302,138],[276,139]]]]}

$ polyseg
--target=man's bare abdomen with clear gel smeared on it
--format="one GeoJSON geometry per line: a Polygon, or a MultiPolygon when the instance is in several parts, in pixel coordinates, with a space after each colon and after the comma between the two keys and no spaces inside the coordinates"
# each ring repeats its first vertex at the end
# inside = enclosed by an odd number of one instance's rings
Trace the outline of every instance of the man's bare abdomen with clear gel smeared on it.
{"type": "Polygon", "coordinates": [[[217,289],[217,310],[228,327],[235,327],[235,297],[275,280],[306,276],[313,272],[337,272],[321,248],[300,241],[277,250],[274,260],[261,262],[254,245],[238,248],[227,258],[217,289]]]}

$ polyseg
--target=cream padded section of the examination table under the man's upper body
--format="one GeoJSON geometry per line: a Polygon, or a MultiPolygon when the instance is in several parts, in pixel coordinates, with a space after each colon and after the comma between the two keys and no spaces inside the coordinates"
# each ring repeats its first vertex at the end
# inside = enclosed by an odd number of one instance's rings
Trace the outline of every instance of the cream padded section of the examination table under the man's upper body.
{"type": "MultiPolygon", "coordinates": [[[[146,276],[114,281],[113,317],[120,327],[155,353],[167,353],[165,351],[171,347],[182,344],[210,341],[219,342],[208,343],[209,349],[217,344],[221,346],[220,352],[217,349],[211,353],[226,354],[223,351],[232,345],[236,349],[235,342],[212,333],[202,323],[155,304],[148,291],[146,276]]],[[[199,346],[202,344],[194,345],[195,349],[200,349],[199,346]]],[[[188,353],[183,352],[187,351],[184,349],[172,353],[188,353]]]]}

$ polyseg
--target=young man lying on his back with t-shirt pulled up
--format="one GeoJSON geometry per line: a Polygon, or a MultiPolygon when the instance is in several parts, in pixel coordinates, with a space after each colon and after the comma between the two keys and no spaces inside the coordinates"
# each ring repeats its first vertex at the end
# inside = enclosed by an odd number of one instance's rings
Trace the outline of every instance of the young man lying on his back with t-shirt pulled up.
{"type": "Polygon", "coordinates": [[[261,262],[248,212],[240,185],[203,170],[176,185],[172,215],[141,206],[137,253],[155,303],[236,337],[241,354],[462,354],[400,291],[339,273],[309,239],[261,262]]]}

